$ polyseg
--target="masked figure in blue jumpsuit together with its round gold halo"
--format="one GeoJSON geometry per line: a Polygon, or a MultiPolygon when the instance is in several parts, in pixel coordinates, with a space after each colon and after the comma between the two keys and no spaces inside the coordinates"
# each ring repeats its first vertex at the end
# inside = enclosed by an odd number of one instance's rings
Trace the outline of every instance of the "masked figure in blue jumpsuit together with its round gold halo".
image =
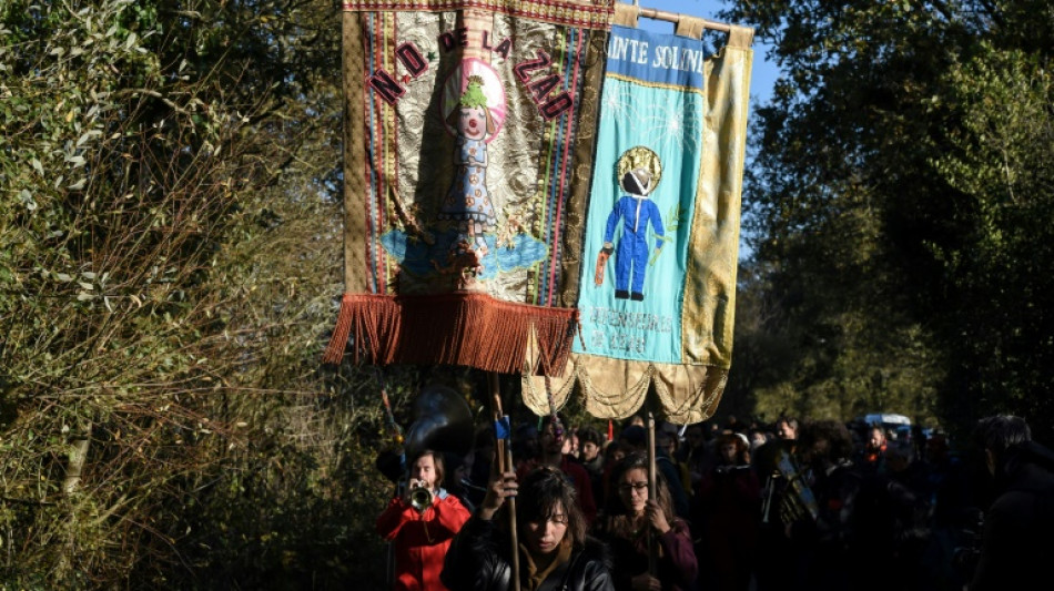
{"type": "Polygon", "coordinates": [[[647,147],[631,147],[618,161],[618,183],[628,194],[615,203],[615,208],[608,215],[604,231],[604,248],[598,261],[600,267],[615,252],[617,299],[641,302],[645,298],[645,276],[648,266],[655,261],[648,244],[649,225],[657,238],[655,256],[662,252],[662,244],[666,242],[662,214],[655,202],[648,198],[661,176],[659,156],[647,147]],[[615,251],[615,234],[619,226],[622,233],[618,241],[618,251],[615,251]]]}

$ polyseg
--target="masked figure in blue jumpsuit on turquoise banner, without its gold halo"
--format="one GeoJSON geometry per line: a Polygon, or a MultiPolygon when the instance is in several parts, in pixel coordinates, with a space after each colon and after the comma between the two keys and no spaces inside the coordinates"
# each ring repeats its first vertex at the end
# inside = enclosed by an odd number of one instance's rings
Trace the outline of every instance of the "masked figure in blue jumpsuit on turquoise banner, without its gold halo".
{"type": "Polygon", "coordinates": [[[622,223],[622,236],[615,253],[615,297],[618,299],[645,298],[645,275],[648,267],[648,224],[651,224],[656,236],[659,237],[656,252],[662,249],[662,237],[666,230],[662,227],[662,215],[659,207],[648,198],[651,188],[651,175],[643,169],[636,169],[622,176],[622,188],[629,195],[622,195],[615,203],[615,208],[608,215],[608,223],[604,231],[604,248],[611,252],[615,240],[615,230],[622,223]]]}

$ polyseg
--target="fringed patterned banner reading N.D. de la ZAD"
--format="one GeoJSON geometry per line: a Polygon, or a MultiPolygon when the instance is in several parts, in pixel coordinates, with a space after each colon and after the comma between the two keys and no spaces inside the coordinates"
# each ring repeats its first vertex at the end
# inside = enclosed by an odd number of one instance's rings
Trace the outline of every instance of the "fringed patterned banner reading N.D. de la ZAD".
{"type": "Polygon", "coordinates": [[[614,2],[344,3],[345,295],[324,356],[565,368],[614,2]],[[570,256],[568,256],[570,254],[570,256]],[[537,356],[536,356],[537,357],[537,356]]]}

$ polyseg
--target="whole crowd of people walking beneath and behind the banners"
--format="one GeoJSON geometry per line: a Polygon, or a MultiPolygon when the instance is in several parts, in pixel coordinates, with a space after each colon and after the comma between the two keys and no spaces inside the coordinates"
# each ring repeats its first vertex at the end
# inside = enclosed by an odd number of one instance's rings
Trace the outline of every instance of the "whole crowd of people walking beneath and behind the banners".
{"type": "Polygon", "coordinates": [[[377,519],[393,588],[1032,589],[1054,556],[1031,534],[1054,526],[1054,452],[1017,417],[979,422],[980,462],[940,431],[833,420],[653,435],[652,462],[640,417],[604,434],[554,415],[513,429],[504,472],[488,427],[467,455],[409,458],[377,519]]]}

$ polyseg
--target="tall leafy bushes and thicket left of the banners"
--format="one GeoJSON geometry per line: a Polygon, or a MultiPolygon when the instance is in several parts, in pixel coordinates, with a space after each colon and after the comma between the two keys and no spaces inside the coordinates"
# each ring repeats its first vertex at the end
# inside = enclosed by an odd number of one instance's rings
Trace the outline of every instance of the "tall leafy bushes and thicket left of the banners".
{"type": "Polygon", "coordinates": [[[320,367],[335,17],[0,6],[0,587],[383,584],[376,383],[320,367]]]}

